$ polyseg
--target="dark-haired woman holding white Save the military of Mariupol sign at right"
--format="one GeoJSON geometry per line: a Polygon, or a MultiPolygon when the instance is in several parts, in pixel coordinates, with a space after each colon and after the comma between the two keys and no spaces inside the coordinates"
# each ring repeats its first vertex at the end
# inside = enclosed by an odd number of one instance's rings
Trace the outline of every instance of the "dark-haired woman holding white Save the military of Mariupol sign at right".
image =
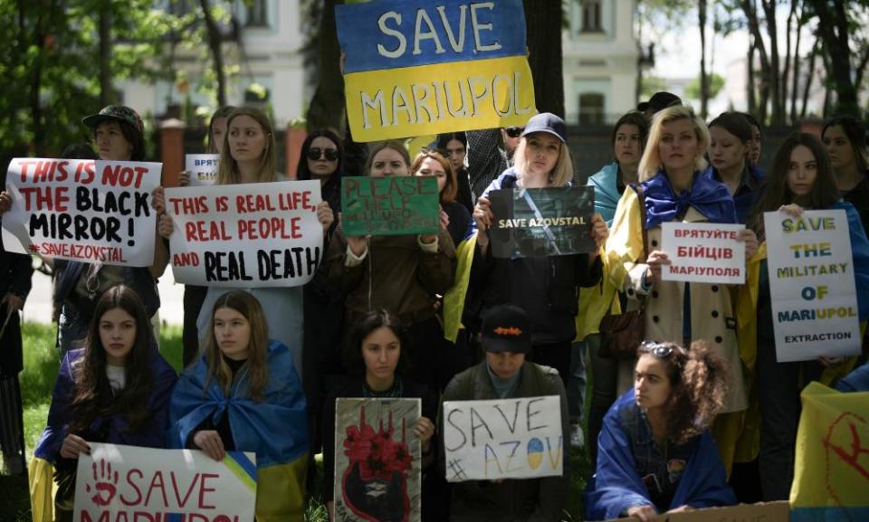
{"type": "MultiPolygon", "coordinates": [[[[764,213],[781,212],[798,218],[804,210],[841,209],[848,219],[854,262],[858,316],[869,316],[869,241],[854,205],[840,199],[830,158],[810,134],[793,134],[778,148],[769,173],[769,189],[755,206],[751,227],[762,242],[749,262],[746,285],[740,292],[740,351],[757,361],[760,403],[760,485],[764,500],[788,499],[794,476],[799,394],[805,384],[830,384],[847,373],[853,361],[819,357],[816,361],[779,363],[772,312],[764,213]],[[846,364],[845,364],[846,363],[846,364]]],[[[777,232],[780,233],[780,232],[777,232]]],[[[796,282],[794,284],[797,284],[796,282]]]]}

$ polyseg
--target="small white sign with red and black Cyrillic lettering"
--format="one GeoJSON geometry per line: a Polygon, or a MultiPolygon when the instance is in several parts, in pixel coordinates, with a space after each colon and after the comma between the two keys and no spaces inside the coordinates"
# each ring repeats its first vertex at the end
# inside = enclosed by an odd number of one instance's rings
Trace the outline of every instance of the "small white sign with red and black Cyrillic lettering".
{"type": "Polygon", "coordinates": [[[661,250],[670,258],[661,279],[744,283],[745,243],[736,240],[743,229],[742,224],[661,223],[661,250]]]}

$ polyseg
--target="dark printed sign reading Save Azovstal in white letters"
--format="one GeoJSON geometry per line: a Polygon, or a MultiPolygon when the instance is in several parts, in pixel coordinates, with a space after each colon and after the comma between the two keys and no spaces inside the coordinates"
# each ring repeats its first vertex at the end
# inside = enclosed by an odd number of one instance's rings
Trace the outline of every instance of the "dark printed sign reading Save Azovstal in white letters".
{"type": "Polygon", "coordinates": [[[597,250],[591,237],[591,186],[493,190],[489,229],[497,258],[568,255],[597,250]]]}

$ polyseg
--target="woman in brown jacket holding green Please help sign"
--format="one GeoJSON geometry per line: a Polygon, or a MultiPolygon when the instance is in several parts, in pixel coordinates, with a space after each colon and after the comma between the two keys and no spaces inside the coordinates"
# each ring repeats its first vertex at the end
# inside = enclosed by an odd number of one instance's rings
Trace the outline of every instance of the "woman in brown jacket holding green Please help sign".
{"type": "MultiPolygon", "coordinates": [[[[410,176],[404,146],[385,142],[371,150],[368,176],[410,176]]],[[[453,285],[455,247],[442,210],[438,233],[345,236],[341,225],[329,243],[329,280],[348,292],[344,324],[386,308],[406,325],[411,371],[417,382],[441,389],[454,375],[444,329],[435,316],[438,296],[453,285]]]]}

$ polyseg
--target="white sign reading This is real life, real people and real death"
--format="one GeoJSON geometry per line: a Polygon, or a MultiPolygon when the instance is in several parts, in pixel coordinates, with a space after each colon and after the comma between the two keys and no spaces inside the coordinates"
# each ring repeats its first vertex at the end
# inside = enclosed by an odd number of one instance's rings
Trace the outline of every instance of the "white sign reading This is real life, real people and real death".
{"type": "Polygon", "coordinates": [[[166,189],[178,282],[235,288],[307,283],[323,258],[320,182],[166,189]]]}

